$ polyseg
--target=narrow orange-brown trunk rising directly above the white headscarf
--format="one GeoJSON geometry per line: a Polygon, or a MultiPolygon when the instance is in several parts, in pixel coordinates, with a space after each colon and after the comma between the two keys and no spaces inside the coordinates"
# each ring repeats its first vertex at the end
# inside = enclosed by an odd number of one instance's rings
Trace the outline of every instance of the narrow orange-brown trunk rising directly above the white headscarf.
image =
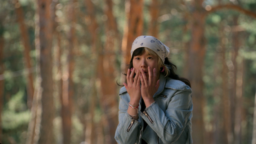
{"type": "Polygon", "coordinates": [[[152,0],[150,5],[150,16],[151,20],[148,27],[148,35],[157,38],[159,33],[159,23],[157,18],[159,17],[159,0],[152,0]]]}

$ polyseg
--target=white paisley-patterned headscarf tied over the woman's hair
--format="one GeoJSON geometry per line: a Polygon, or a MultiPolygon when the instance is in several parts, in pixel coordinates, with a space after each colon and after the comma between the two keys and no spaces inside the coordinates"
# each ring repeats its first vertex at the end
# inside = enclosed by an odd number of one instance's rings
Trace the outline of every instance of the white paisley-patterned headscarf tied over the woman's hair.
{"type": "Polygon", "coordinates": [[[147,47],[153,50],[163,62],[170,53],[170,48],[165,46],[160,40],[153,36],[139,36],[132,43],[131,56],[135,49],[139,47],[147,47]]]}

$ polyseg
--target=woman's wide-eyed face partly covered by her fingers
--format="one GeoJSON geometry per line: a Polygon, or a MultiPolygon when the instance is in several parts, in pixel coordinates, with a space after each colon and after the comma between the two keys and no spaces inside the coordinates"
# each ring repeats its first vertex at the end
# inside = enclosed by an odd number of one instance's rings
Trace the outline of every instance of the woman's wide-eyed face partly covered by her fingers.
{"type": "Polygon", "coordinates": [[[149,55],[144,52],[142,55],[137,55],[133,57],[132,60],[133,67],[135,71],[139,69],[140,71],[143,69],[146,77],[148,78],[148,66],[150,66],[151,73],[153,76],[153,70],[156,70],[157,80],[159,79],[160,71],[158,69],[158,57],[154,55],[149,55]]]}

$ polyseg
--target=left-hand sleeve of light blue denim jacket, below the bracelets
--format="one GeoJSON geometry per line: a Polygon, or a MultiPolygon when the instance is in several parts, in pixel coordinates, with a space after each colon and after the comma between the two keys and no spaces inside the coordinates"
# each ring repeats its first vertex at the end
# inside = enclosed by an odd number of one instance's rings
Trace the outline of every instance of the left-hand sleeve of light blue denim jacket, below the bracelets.
{"type": "MultiPolygon", "coordinates": [[[[135,144],[139,134],[140,121],[133,119],[127,112],[128,102],[121,97],[119,102],[119,124],[115,131],[115,140],[119,144],[135,144]]],[[[139,114],[138,114],[139,115],[139,114]]]]}

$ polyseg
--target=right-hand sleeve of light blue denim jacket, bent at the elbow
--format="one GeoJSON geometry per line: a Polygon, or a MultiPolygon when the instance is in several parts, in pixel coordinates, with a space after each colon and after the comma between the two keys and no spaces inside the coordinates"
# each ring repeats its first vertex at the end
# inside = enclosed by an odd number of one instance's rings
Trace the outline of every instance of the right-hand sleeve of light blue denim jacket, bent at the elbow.
{"type": "Polygon", "coordinates": [[[141,117],[157,133],[163,143],[170,144],[179,139],[192,118],[191,93],[190,87],[186,85],[185,89],[176,89],[165,112],[157,103],[154,103],[141,113],[141,117]]]}

